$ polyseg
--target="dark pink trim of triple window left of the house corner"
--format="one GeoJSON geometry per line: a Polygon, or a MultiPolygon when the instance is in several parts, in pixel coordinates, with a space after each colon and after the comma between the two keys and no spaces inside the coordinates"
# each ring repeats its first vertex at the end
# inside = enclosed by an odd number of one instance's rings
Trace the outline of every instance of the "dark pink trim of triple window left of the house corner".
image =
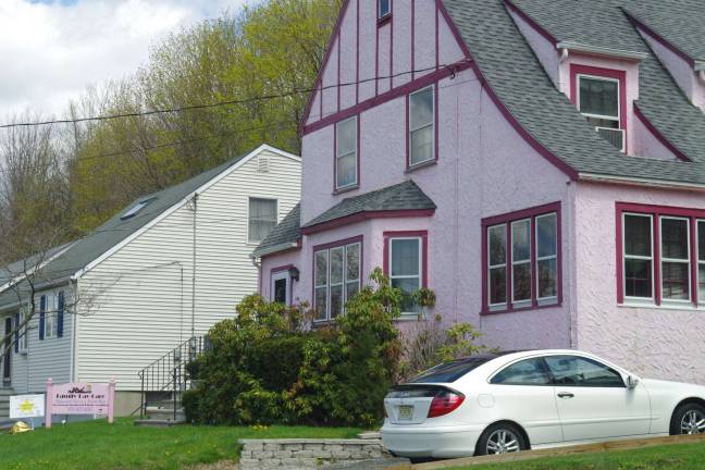
{"type": "Polygon", "coordinates": [[[482,310],[480,314],[496,314],[507,312],[518,312],[524,310],[536,310],[541,308],[551,308],[562,305],[562,236],[561,236],[561,214],[560,201],[552,202],[543,206],[536,206],[529,209],[522,209],[515,212],[509,212],[502,215],[494,215],[482,220],[482,310]],[[536,270],[536,225],[535,220],[540,215],[556,213],[556,302],[549,305],[539,305],[536,295],[536,285],[539,275],[536,270]],[[512,265],[511,265],[511,222],[520,220],[531,220],[531,306],[517,307],[511,301],[511,280],[512,280],[512,265]],[[491,310],[488,298],[490,280],[487,279],[487,228],[494,225],[507,224],[507,308],[491,310]]]}

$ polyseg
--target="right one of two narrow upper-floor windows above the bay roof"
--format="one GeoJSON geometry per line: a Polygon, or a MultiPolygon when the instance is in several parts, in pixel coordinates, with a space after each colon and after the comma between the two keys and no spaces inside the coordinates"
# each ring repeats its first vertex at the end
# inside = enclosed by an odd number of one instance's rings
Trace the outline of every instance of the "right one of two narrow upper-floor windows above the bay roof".
{"type": "Polygon", "coordinates": [[[409,166],[435,159],[433,85],[409,95],[409,166]]]}

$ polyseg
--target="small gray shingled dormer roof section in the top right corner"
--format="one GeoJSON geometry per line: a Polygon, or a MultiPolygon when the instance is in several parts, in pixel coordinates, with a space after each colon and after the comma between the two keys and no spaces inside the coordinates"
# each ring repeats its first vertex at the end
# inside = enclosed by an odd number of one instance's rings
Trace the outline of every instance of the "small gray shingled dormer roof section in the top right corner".
{"type": "Polygon", "coordinates": [[[632,1],[626,10],[691,59],[705,61],[703,0],[632,1]]]}

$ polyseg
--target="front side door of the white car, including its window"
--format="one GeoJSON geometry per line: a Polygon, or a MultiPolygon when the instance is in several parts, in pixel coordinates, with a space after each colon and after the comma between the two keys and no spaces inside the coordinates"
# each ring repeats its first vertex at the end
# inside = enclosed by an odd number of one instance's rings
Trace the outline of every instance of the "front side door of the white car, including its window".
{"type": "Polygon", "coordinates": [[[648,393],[628,388],[622,374],[592,358],[546,356],[554,376],[564,440],[594,441],[648,434],[648,393]]]}

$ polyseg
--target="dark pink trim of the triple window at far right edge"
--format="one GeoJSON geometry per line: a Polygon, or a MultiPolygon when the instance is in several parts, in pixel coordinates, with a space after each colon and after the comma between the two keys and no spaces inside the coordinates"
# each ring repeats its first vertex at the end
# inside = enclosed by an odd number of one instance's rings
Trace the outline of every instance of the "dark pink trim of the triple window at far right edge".
{"type": "Polygon", "coordinates": [[[661,305],[661,268],[660,268],[660,217],[679,217],[688,219],[690,231],[690,281],[691,281],[691,304],[697,306],[697,231],[698,220],[705,220],[705,209],[681,208],[673,206],[653,206],[631,202],[616,202],[616,263],[617,263],[617,304],[624,302],[624,256],[622,246],[622,214],[636,213],[652,217],[653,240],[652,240],[652,269],[654,272],[654,304],[661,305]]]}

